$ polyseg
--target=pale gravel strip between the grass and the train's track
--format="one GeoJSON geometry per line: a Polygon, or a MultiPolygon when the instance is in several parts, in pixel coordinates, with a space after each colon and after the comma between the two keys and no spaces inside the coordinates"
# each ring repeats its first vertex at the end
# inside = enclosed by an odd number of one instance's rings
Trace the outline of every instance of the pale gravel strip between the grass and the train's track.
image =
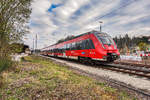
{"type": "Polygon", "coordinates": [[[73,63],[73,62],[69,62],[69,61],[65,61],[65,60],[61,60],[61,59],[55,59],[55,58],[51,58],[51,59],[58,61],[60,63],[65,63],[69,66],[72,66],[73,68],[78,68],[80,70],[83,70],[83,71],[86,71],[86,72],[89,72],[92,74],[96,74],[98,76],[104,76],[104,77],[108,77],[109,79],[113,79],[113,80],[116,80],[119,82],[126,83],[135,88],[150,91],[150,79],[147,79],[147,78],[142,78],[142,77],[138,77],[135,75],[131,76],[129,74],[109,71],[109,70],[105,70],[105,69],[99,69],[99,68],[86,66],[86,65],[82,65],[82,64],[77,64],[77,63],[73,63]]]}

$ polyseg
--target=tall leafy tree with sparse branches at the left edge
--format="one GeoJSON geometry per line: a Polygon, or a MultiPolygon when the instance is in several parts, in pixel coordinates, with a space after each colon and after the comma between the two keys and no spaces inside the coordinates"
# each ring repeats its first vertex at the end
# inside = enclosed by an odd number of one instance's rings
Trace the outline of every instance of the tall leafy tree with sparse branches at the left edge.
{"type": "Polygon", "coordinates": [[[31,0],[0,0],[0,56],[7,56],[9,44],[28,32],[31,0]]]}

